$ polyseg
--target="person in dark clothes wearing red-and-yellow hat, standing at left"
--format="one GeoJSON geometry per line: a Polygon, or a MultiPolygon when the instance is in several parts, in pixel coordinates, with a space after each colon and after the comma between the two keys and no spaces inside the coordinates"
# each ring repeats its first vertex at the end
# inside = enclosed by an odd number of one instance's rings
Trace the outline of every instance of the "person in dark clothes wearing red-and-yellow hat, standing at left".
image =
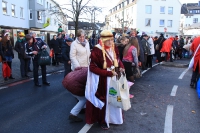
{"type": "Polygon", "coordinates": [[[29,77],[28,76],[28,62],[30,58],[25,56],[25,34],[23,32],[19,32],[17,41],[15,43],[15,50],[18,53],[18,59],[20,60],[20,73],[21,77],[29,77]]]}

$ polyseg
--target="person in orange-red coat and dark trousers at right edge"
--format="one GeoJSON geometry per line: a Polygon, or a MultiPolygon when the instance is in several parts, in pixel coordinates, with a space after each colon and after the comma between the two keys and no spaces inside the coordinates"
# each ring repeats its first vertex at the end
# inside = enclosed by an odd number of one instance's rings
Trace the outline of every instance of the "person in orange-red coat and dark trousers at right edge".
{"type": "MultiPolygon", "coordinates": [[[[195,38],[192,42],[191,51],[195,53],[198,46],[200,45],[200,36],[195,38]]],[[[190,86],[194,87],[194,84],[196,83],[196,78],[200,74],[200,48],[197,50],[196,55],[194,57],[194,66],[193,66],[193,73],[192,73],[192,79],[190,86]]]]}

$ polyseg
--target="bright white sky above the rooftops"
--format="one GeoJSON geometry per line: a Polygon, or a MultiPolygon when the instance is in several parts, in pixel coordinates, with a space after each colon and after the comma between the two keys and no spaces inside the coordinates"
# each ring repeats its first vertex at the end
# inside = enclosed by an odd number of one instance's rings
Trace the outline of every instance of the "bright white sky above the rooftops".
{"type": "MultiPolygon", "coordinates": [[[[59,4],[70,4],[70,0],[56,0],[59,4]]],[[[83,0],[83,1],[88,1],[88,0],[83,0]]],[[[174,0],[167,0],[167,1],[174,1],[174,0]]],[[[183,3],[197,3],[199,0],[180,0],[180,2],[183,3]]],[[[108,14],[109,9],[113,8],[119,0],[91,0],[90,6],[97,6],[97,7],[102,7],[102,13],[98,13],[96,19],[104,22],[105,20],[105,15],[108,14]]],[[[67,6],[69,7],[69,5],[67,6]]],[[[70,8],[70,7],[69,7],[70,8]]],[[[69,20],[71,21],[71,20],[69,20]]]]}

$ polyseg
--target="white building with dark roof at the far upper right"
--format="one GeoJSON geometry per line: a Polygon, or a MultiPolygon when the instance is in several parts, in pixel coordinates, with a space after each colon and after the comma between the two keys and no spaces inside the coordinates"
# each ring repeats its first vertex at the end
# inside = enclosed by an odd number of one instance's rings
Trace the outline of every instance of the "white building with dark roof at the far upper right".
{"type": "Polygon", "coordinates": [[[200,1],[183,4],[181,8],[181,33],[186,36],[200,34],[200,1]]]}

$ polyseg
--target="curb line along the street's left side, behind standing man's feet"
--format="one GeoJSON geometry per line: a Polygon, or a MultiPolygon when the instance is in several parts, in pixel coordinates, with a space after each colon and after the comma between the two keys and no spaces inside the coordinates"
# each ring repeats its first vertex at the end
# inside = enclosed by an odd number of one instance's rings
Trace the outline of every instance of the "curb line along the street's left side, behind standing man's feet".
{"type": "MultiPolygon", "coordinates": [[[[56,71],[49,71],[49,72],[47,72],[47,75],[53,74],[53,73],[56,73],[56,72],[59,72],[59,71],[62,71],[62,70],[64,70],[64,69],[58,69],[56,71]]],[[[41,76],[41,74],[39,74],[38,76],[41,76]]],[[[28,79],[31,79],[31,78],[33,78],[33,75],[30,75],[29,78],[11,79],[9,81],[0,83],[0,87],[6,86],[6,85],[9,85],[9,84],[12,84],[12,83],[17,83],[17,82],[20,82],[20,81],[23,81],[23,80],[28,80],[28,79]]]]}

